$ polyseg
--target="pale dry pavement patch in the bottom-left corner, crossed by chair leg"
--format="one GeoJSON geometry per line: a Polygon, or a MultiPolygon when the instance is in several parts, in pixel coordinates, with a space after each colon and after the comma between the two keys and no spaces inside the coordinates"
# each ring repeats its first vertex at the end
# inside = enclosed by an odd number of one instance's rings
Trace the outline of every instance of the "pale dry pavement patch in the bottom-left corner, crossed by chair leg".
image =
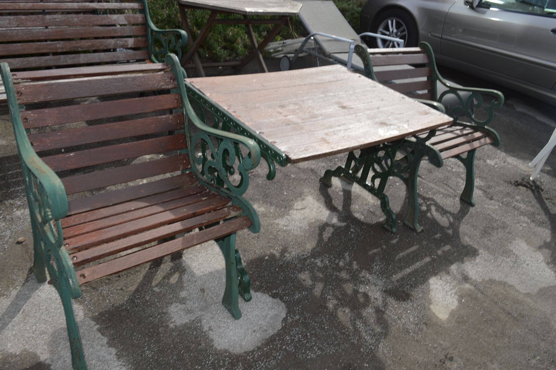
{"type": "MultiPolygon", "coordinates": [[[[52,370],[71,369],[71,353],[62,302],[56,289],[38,284],[31,278],[20,290],[0,299],[3,308],[0,319],[0,348],[5,353],[36,354],[42,362],[51,364],[52,370]],[[13,302],[13,303],[12,303],[13,302]]],[[[116,351],[107,346],[106,338],[98,332],[96,324],[85,317],[83,309],[73,304],[80,329],[85,357],[91,369],[125,369],[116,357],[116,351]],[[88,354],[95,356],[88,356],[88,354]]]]}

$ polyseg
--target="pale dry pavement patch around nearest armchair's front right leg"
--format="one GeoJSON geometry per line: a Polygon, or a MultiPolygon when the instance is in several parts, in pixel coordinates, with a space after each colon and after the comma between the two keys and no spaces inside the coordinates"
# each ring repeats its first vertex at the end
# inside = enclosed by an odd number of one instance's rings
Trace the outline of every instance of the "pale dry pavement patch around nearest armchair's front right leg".
{"type": "Polygon", "coordinates": [[[185,303],[170,306],[171,325],[200,319],[217,349],[232,353],[251,351],[280,330],[286,306],[279,299],[254,292],[251,302],[240,298],[242,317],[235,320],[220,303],[225,283],[224,258],[216,243],[210,244],[184,253],[183,261],[188,268],[182,279],[186,283],[180,297],[185,303]],[[192,281],[196,283],[187,283],[192,281]]]}

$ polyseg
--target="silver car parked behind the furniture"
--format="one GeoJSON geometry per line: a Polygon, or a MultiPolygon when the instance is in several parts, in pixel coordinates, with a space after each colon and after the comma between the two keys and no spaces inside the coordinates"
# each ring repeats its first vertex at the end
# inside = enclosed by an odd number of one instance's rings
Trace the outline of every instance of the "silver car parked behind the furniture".
{"type": "Polygon", "coordinates": [[[429,42],[441,65],[556,105],[556,0],[370,0],[361,31],[429,42]]]}

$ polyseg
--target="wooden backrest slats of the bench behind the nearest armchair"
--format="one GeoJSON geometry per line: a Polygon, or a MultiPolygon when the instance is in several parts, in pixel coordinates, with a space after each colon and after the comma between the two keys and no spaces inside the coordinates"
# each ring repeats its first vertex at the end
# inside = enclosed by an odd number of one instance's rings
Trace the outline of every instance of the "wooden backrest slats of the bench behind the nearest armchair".
{"type": "Polygon", "coordinates": [[[0,1],[0,62],[12,71],[145,61],[142,1],[0,1]]]}

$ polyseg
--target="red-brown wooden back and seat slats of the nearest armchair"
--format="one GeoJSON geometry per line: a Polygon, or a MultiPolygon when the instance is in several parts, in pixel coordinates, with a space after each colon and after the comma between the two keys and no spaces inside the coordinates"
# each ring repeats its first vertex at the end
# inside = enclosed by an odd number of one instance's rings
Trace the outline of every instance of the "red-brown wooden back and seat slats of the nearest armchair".
{"type": "MultiPolygon", "coordinates": [[[[23,127],[29,130],[27,137],[33,149],[44,164],[59,174],[66,194],[77,195],[68,203],[68,215],[60,220],[63,245],[73,263],[83,265],[97,263],[99,259],[117,259],[122,252],[148,244],[155,235],[165,239],[241,215],[241,209],[232,206],[229,198],[200,185],[192,173],[172,176],[191,167],[188,155],[183,152],[187,148],[186,135],[179,131],[185,124],[183,114],[168,114],[169,110],[181,107],[179,95],[167,92],[176,86],[176,78],[168,71],[168,65],[145,69],[140,75],[44,79],[14,86],[18,101],[28,105],[27,110],[19,114],[23,127]],[[75,98],[102,96],[107,91],[111,98],[73,103],[75,98]],[[158,93],[143,97],[127,95],[138,91],[158,93]],[[57,105],[35,108],[35,103],[44,102],[57,102],[57,105]],[[112,121],[118,117],[131,119],[85,127],[63,126],[83,119],[112,121]],[[167,135],[168,132],[173,134],[167,135]],[[115,141],[122,139],[132,140],[115,141]],[[148,160],[134,161],[139,158],[148,160]],[[122,165],[122,161],[128,160],[132,163],[122,165]],[[171,176],[132,184],[168,175],[171,176]],[[125,184],[122,189],[110,188],[121,184],[125,184]],[[87,194],[99,189],[107,191],[87,194]],[[137,235],[141,235],[140,240],[137,235]],[[143,238],[145,235],[150,236],[143,238]]],[[[231,225],[245,228],[251,223],[226,223],[216,230],[236,227],[231,225]]],[[[180,240],[189,246],[210,240],[202,235],[215,234],[205,232],[191,242],[187,241],[188,236],[180,240]]],[[[177,244],[172,245],[165,248],[177,248],[177,244]]],[[[148,246],[147,250],[138,254],[139,259],[135,257],[138,252],[134,251],[133,258],[125,259],[128,264],[101,261],[99,266],[103,267],[85,273],[87,278],[80,279],[80,284],[131,268],[138,261],[161,258],[166,253],[166,249],[159,252],[158,247],[153,246],[148,246]]]]}

